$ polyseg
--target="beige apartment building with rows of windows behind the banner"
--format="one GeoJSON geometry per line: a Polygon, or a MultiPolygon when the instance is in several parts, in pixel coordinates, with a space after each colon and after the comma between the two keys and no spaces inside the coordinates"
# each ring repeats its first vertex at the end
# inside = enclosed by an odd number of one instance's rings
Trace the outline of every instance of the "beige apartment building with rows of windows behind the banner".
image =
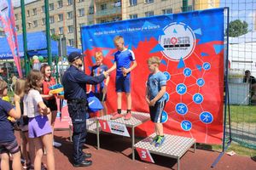
{"type": "MultiPolygon", "coordinates": [[[[213,1],[188,0],[183,3],[183,0],[49,0],[50,33],[64,35],[67,45],[81,48],[81,26],[180,13],[184,10],[183,4],[186,11],[217,7],[219,0],[213,1]]],[[[26,31],[45,31],[44,0],[26,3],[25,10],[26,31]]],[[[15,6],[15,25],[18,33],[21,33],[19,5],[15,6]]]]}

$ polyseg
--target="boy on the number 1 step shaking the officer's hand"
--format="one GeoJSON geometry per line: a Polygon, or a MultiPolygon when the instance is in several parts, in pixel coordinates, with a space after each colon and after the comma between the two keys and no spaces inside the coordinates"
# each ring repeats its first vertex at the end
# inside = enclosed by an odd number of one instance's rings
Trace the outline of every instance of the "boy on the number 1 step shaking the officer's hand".
{"type": "Polygon", "coordinates": [[[131,119],[131,71],[137,66],[135,55],[130,49],[125,48],[124,38],[121,36],[114,37],[114,45],[117,52],[114,54],[113,66],[107,71],[111,72],[116,69],[115,91],[117,93],[118,109],[111,119],[121,118],[122,93],[125,92],[127,101],[127,113],[125,120],[131,119]],[[132,63],[132,65],[131,65],[132,63]]]}

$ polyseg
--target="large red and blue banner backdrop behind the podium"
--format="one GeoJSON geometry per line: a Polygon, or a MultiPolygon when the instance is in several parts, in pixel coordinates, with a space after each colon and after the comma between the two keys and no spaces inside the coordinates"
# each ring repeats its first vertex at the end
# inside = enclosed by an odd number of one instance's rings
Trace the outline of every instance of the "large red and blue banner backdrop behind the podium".
{"type": "MultiPolygon", "coordinates": [[[[224,8],[183,14],[160,15],[81,28],[85,72],[96,63],[101,50],[103,63],[113,65],[117,51],[113,37],[123,36],[137,68],[131,73],[133,111],[148,111],[145,88],[147,59],[159,56],[160,71],[167,77],[164,131],[195,138],[199,143],[221,144],[224,105],[224,8]]],[[[108,113],[117,109],[115,72],[108,84],[108,113]]],[[[125,94],[122,108],[126,110],[125,94]]],[[[154,132],[152,122],[140,126],[140,134],[154,132]]]]}

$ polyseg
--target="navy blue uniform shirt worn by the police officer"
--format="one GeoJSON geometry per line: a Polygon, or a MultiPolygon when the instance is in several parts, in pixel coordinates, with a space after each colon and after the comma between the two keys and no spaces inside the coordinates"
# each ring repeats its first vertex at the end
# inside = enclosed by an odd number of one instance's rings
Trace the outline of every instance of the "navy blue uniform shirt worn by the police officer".
{"type": "Polygon", "coordinates": [[[105,79],[104,75],[90,77],[80,71],[77,67],[70,65],[62,77],[65,99],[87,99],[86,84],[95,85],[105,79]]]}

